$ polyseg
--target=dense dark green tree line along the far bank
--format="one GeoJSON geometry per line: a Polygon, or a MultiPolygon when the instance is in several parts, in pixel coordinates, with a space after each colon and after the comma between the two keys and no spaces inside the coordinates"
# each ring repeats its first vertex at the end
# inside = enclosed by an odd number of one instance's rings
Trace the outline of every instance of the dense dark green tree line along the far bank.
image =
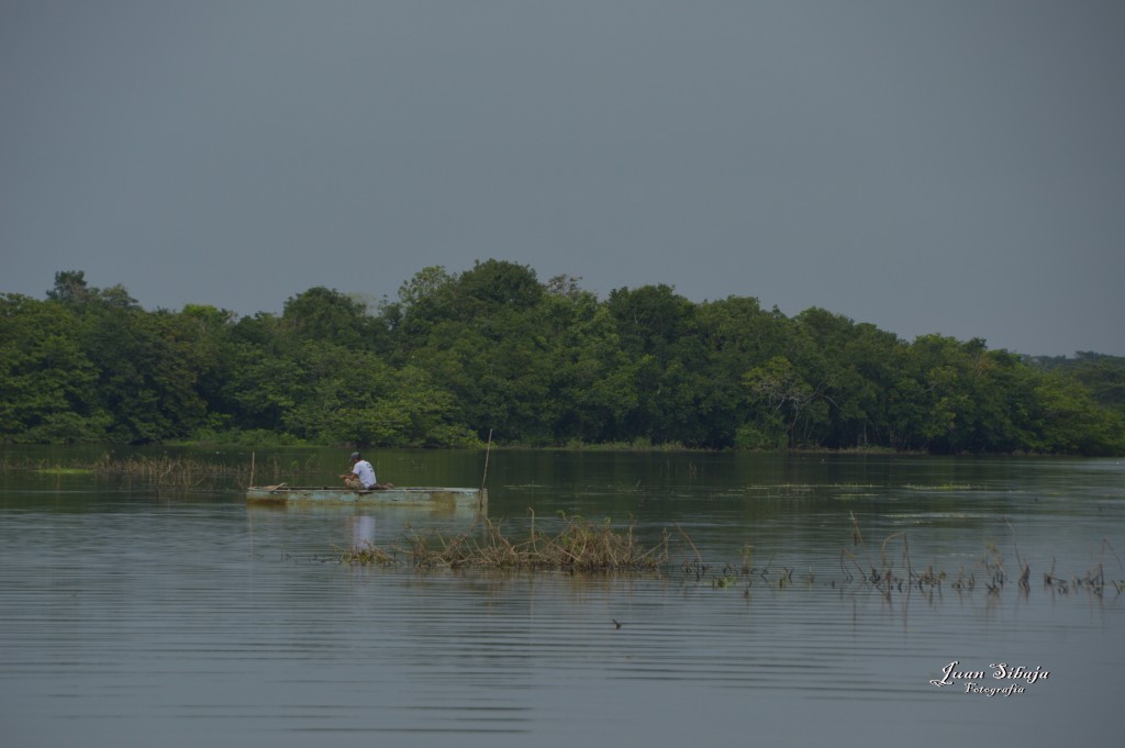
{"type": "Polygon", "coordinates": [[[1125,359],[907,342],[820,308],[598,299],[488,260],[426,268],[375,309],[318,287],[280,315],[147,312],[60,272],[0,295],[0,439],[292,439],[705,449],[1125,453],[1125,359]]]}

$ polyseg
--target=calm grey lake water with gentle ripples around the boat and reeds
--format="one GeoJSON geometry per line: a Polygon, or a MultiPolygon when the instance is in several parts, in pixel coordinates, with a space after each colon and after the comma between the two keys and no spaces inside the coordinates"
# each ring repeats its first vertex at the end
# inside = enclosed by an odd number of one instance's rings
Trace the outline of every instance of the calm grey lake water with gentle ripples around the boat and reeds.
{"type": "MultiPolygon", "coordinates": [[[[345,458],[259,452],[258,483],[295,467],[290,483],[334,483],[345,458]]],[[[483,452],[369,459],[399,485],[474,486],[485,468],[483,452]]],[[[645,542],[670,533],[672,561],[352,567],[336,559],[357,542],[474,517],[248,507],[233,479],[0,474],[0,745],[1119,740],[1120,461],[493,451],[486,481],[505,534],[532,513],[632,522],[645,542]],[[875,567],[945,578],[876,586],[875,567]],[[1050,675],[992,677],[1001,664],[1050,675]]]]}

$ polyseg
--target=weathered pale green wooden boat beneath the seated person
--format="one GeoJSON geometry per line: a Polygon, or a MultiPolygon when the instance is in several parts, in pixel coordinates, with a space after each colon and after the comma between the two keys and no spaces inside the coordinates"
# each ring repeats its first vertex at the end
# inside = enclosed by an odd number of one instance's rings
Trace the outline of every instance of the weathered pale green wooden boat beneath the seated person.
{"type": "Polygon", "coordinates": [[[488,489],[410,487],[353,490],[338,486],[279,484],[277,486],[251,486],[246,489],[246,502],[456,507],[485,512],[488,508],[488,489]]]}

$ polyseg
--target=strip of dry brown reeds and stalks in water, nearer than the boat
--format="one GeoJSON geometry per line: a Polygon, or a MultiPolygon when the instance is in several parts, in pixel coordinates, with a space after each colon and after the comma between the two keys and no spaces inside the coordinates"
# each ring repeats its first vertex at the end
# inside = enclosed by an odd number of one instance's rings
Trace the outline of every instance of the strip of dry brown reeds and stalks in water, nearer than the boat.
{"type": "MultiPolygon", "coordinates": [[[[714,589],[738,588],[747,597],[752,589],[786,589],[794,586],[828,586],[831,588],[863,587],[878,592],[888,602],[896,595],[920,594],[929,600],[946,592],[965,595],[980,592],[988,598],[999,597],[1005,589],[1022,596],[1032,592],[1032,568],[1015,549],[1015,565],[1006,562],[994,542],[988,542],[981,557],[970,567],[960,566],[955,573],[939,570],[934,562],[918,565],[910,556],[909,535],[897,532],[875,546],[863,539],[854,515],[852,548],[839,552],[839,576],[825,579],[810,568],[798,573],[795,566],[775,564],[775,558],[764,565],[754,561],[753,549],[746,547],[737,562],[709,562],[681,528],[675,533],[664,530],[659,541],[645,544],[634,537],[634,525],[614,528],[606,520],[594,523],[575,515],[561,515],[562,526],[556,532],[537,528],[532,514],[531,528],[525,538],[513,539],[505,534],[500,523],[483,521],[462,533],[444,535],[440,532],[414,532],[387,548],[364,542],[350,549],[335,549],[333,560],[349,566],[378,566],[381,568],[411,568],[433,570],[476,570],[485,573],[557,571],[572,575],[647,574],[660,578],[683,578],[714,589]],[[675,550],[682,553],[673,559],[675,550]],[[1012,571],[1009,571],[1014,569],[1012,571]]],[[[1015,530],[1012,529],[1012,532],[1015,530]]],[[[1055,560],[1042,571],[1043,589],[1053,596],[1089,593],[1102,598],[1108,593],[1125,593],[1125,578],[1110,578],[1106,565],[1113,562],[1125,571],[1125,565],[1109,544],[1102,540],[1096,558],[1084,574],[1056,573],[1055,560]]]]}

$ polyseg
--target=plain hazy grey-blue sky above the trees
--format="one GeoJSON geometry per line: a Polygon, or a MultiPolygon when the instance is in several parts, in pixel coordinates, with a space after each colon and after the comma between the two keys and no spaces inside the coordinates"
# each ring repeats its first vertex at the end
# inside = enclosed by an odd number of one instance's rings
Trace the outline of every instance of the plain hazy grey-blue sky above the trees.
{"type": "Polygon", "coordinates": [[[496,258],[1125,355],[1125,2],[0,0],[0,291],[496,258]]]}

